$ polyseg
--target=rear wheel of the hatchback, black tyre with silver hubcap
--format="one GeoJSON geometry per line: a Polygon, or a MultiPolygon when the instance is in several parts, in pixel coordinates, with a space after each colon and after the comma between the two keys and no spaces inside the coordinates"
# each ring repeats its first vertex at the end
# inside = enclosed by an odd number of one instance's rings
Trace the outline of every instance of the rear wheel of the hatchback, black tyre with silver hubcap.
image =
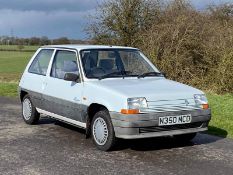
{"type": "Polygon", "coordinates": [[[29,125],[36,124],[40,118],[40,114],[36,111],[28,94],[22,100],[22,117],[29,125]]]}

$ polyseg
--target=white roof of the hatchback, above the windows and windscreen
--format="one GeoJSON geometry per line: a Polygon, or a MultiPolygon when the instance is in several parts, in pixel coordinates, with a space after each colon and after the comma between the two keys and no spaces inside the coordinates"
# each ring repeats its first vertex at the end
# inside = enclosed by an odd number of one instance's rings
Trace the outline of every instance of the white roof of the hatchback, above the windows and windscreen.
{"type": "Polygon", "coordinates": [[[64,45],[47,45],[42,46],[41,48],[64,48],[64,49],[137,49],[133,47],[124,47],[124,46],[111,46],[111,45],[78,45],[78,44],[64,44],[64,45]]]}

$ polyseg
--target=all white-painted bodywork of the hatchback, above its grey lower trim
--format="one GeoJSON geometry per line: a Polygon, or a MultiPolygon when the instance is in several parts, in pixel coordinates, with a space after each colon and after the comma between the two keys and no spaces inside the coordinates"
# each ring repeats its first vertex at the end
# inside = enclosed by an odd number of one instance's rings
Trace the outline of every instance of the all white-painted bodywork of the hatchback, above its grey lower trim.
{"type": "MultiPolygon", "coordinates": [[[[79,51],[82,49],[117,49],[126,47],[96,45],[56,45],[44,46],[42,48],[51,48],[55,51],[61,48],[64,50],[73,50],[76,52],[78,62],[80,62],[79,51]]],[[[39,51],[40,49],[37,51],[37,53],[39,51]]],[[[89,106],[92,103],[98,103],[104,105],[109,111],[114,112],[120,112],[121,109],[126,109],[128,107],[127,98],[145,97],[148,103],[155,102],[156,105],[164,105],[166,107],[167,101],[172,103],[173,106],[180,105],[180,102],[178,102],[180,99],[182,99],[183,102],[188,100],[189,103],[193,103],[194,94],[204,94],[198,89],[168,80],[163,77],[145,77],[140,79],[137,77],[129,77],[125,79],[108,78],[102,80],[88,79],[84,76],[82,65],[79,65],[81,75],[83,76],[83,81],[81,83],[67,82],[59,79],[54,80],[54,78],[49,76],[54,54],[50,61],[46,77],[27,72],[29,65],[35,57],[34,56],[29,62],[23,74],[22,80],[20,81],[20,87],[35,92],[41,92],[53,97],[58,97],[60,99],[65,99],[67,101],[76,102],[77,104],[81,103],[89,106]],[[85,100],[83,100],[83,98],[85,98],[85,100]],[[166,101],[166,103],[164,103],[164,101],[166,101]]],[[[143,57],[145,58],[145,56],[143,57]]],[[[150,65],[152,65],[152,63],[147,58],[145,59],[147,62],[149,62],[150,65]]],[[[155,71],[157,71],[155,66],[152,67],[155,71]]]]}

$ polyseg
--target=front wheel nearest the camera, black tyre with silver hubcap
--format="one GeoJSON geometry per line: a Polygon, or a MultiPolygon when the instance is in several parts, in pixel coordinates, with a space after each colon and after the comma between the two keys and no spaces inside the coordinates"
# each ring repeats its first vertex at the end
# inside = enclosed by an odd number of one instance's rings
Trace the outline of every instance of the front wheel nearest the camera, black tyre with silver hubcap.
{"type": "Polygon", "coordinates": [[[116,142],[114,128],[106,109],[97,112],[91,122],[92,139],[98,149],[109,151],[116,142]]]}

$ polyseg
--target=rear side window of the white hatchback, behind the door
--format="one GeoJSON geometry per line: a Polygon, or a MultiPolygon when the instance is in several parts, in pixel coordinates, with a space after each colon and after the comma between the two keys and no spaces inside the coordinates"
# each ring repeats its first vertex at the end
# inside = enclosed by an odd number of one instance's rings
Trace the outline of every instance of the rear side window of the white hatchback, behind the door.
{"type": "Polygon", "coordinates": [[[49,61],[53,55],[53,49],[43,49],[41,50],[33,60],[29,72],[39,75],[46,75],[49,61]]]}

